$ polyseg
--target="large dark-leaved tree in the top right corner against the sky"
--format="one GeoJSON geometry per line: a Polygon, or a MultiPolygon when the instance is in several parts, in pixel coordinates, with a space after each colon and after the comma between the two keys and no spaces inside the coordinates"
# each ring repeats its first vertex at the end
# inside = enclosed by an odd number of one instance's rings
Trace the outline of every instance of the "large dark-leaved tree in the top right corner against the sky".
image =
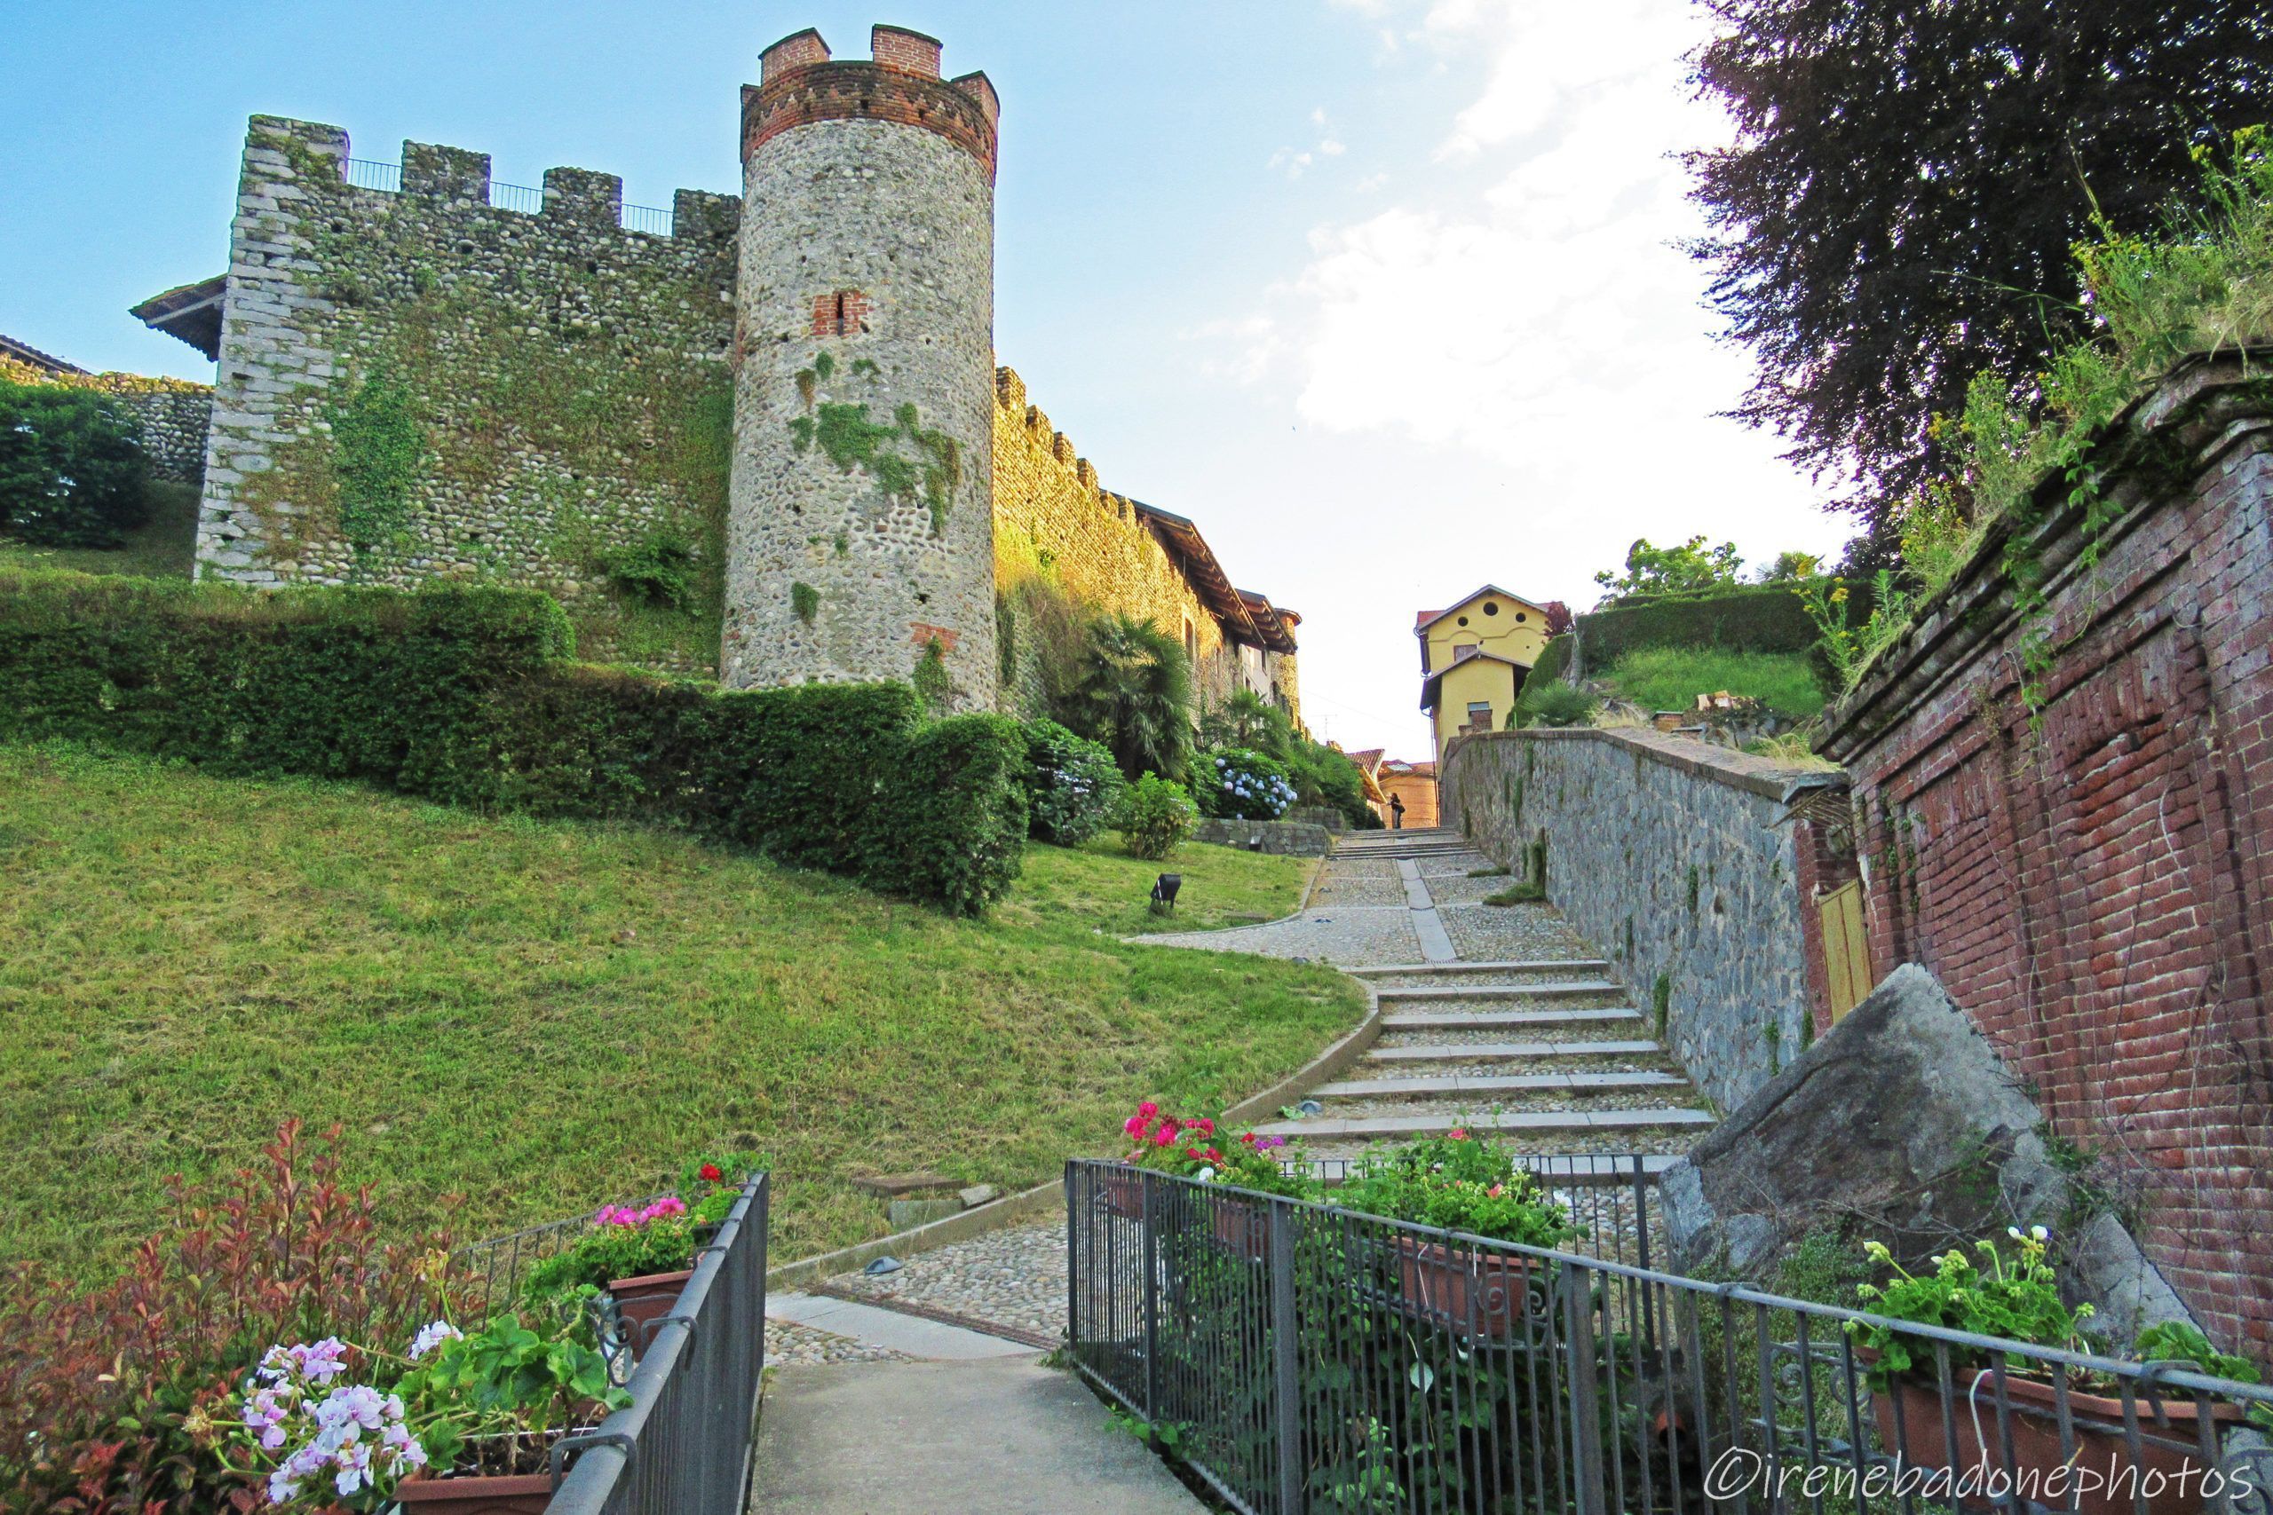
{"type": "Polygon", "coordinates": [[[1737,139],[1689,157],[1693,252],[1757,359],[1737,413],[1880,538],[1973,373],[2023,393],[2071,327],[2093,214],[2153,229],[2191,148],[2273,118],[2266,0],[1702,2],[1737,139]]]}

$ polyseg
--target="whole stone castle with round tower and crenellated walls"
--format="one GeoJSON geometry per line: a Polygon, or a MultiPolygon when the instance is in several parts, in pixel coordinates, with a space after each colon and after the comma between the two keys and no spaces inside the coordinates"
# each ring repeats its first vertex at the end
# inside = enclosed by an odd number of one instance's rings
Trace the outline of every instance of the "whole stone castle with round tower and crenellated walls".
{"type": "Polygon", "coordinates": [[[200,577],[493,575],[584,656],[734,686],[916,677],[1032,706],[1018,584],[1152,620],[1214,704],[1298,713],[1298,616],[1191,520],[1107,495],[993,361],[1000,102],[939,43],[816,32],[743,89],[743,193],[623,204],[480,152],[350,157],[255,116],[230,268],[145,320],[218,361],[200,577]]]}

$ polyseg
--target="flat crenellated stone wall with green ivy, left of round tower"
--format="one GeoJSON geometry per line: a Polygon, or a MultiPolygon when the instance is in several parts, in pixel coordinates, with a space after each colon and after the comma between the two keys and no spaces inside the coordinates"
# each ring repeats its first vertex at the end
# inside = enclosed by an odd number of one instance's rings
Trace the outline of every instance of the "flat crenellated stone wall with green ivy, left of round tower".
{"type": "Polygon", "coordinates": [[[580,654],[716,668],[739,198],[621,225],[555,168],[405,143],[350,184],[339,127],[255,116],[230,245],[198,572],[546,588],[580,654]],[[532,198],[534,204],[534,198],[532,198]]]}

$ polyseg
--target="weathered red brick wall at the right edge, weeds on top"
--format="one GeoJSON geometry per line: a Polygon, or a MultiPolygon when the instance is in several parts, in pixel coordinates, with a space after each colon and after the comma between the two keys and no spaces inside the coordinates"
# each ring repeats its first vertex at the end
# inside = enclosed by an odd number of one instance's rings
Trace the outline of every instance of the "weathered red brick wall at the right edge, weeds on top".
{"type": "Polygon", "coordinates": [[[2273,429],[2250,404],[2187,434],[2198,477],[2134,500],[2096,570],[2050,579],[2041,720],[2012,618],[1950,613],[1830,750],[1866,813],[1875,963],[1941,979],[2059,1136],[2137,1186],[2139,1240],[2209,1333],[2268,1361],[2273,429]]]}

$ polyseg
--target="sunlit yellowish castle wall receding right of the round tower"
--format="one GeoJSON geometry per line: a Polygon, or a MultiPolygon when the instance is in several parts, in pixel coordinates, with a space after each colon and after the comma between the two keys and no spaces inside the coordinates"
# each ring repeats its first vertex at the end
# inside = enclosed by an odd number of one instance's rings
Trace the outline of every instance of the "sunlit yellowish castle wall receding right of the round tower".
{"type": "MultiPolygon", "coordinates": [[[[1073,600],[1136,616],[1196,643],[1193,690],[1212,709],[1239,688],[1300,718],[1296,654],[1232,641],[1175,554],[1143,520],[1143,507],[1098,482],[1064,432],[1034,404],[1025,379],[996,370],[993,407],[993,559],[996,584],[1011,593],[1027,579],[1055,584],[1073,600]]],[[[1011,634],[1007,684],[1032,702],[1032,634],[1011,634]]]]}

